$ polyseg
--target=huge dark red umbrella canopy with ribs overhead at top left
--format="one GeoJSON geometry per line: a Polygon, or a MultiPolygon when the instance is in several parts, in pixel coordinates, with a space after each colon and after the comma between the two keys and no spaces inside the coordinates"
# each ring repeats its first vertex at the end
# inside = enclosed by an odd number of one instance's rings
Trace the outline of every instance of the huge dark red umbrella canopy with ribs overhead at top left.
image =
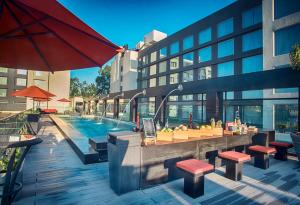
{"type": "Polygon", "coordinates": [[[0,66],[62,71],[102,66],[120,47],[56,0],[0,0],[0,66]]]}

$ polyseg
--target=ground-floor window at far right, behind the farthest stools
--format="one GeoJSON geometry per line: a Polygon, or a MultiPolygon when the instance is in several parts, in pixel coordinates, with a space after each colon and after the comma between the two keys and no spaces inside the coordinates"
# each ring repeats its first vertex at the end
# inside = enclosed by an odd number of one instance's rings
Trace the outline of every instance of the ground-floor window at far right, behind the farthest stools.
{"type": "Polygon", "coordinates": [[[275,130],[292,132],[298,129],[298,104],[275,105],[275,130]]]}

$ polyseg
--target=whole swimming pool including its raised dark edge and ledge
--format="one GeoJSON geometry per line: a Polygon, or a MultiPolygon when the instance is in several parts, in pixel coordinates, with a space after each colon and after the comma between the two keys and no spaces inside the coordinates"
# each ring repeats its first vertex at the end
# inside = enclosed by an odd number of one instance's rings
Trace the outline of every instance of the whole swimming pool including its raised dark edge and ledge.
{"type": "Polygon", "coordinates": [[[52,121],[66,138],[80,160],[84,164],[97,163],[107,160],[107,151],[94,150],[91,142],[105,144],[109,132],[132,130],[135,126],[130,122],[120,122],[112,119],[103,119],[99,122],[94,119],[70,116],[51,116],[52,121]]]}

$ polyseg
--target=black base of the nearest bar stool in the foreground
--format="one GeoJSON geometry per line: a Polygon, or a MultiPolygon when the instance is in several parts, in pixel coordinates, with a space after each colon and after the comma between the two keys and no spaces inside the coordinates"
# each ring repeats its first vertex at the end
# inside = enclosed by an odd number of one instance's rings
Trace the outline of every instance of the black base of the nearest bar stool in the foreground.
{"type": "Polygon", "coordinates": [[[197,198],[204,194],[204,175],[184,175],[184,193],[192,198],[197,198]]]}

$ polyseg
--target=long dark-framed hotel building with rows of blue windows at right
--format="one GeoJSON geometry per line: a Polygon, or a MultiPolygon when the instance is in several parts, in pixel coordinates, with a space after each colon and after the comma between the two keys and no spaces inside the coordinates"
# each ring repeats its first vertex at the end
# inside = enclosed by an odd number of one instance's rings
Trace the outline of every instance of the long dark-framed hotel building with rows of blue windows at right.
{"type": "MultiPolygon", "coordinates": [[[[300,43],[299,0],[240,0],[138,52],[137,90],[132,119],[153,117],[168,98],[162,123],[211,118],[243,122],[287,133],[299,128],[300,72],[289,52],[300,43]]],[[[117,95],[118,93],[114,93],[117,95]]]]}

